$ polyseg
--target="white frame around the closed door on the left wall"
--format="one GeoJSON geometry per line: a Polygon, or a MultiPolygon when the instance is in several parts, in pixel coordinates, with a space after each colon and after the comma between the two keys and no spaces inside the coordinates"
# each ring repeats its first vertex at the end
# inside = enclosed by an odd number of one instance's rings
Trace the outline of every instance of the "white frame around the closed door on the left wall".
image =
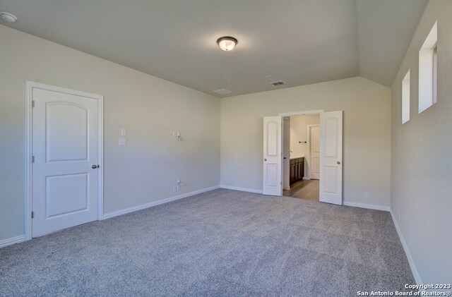
{"type": "Polygon", "coordinates": [[[98,137],[99,146],[97,154],[99,156],[100,170],[98,170],[98,190],[97,190],[97,220],[102,220],[104,210],[104,97],[102,95],[95,95],[88,92],[81,92],[77,90],[70,90],[64,87],[55,87],[53,85],[44,85],[42,83],[34,83],[31,81],[25,82],[26,87],[26,117],[25,117],[25,239],[32,238],[32,95],[33,89],[42,89],[52,92],[62,92],[64,94],[76,95],[81,97],[88,97],[97,99],[98,102],[98,137]]]}

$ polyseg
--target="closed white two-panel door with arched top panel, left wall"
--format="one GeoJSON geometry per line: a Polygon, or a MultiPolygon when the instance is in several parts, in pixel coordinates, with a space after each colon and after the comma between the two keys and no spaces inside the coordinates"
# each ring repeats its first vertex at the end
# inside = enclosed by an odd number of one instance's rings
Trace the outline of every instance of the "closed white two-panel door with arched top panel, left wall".
{"type": "Polygon", "coordinates": [[[32,236],[97,220],[97,99],[32,89],[32,236]]]}

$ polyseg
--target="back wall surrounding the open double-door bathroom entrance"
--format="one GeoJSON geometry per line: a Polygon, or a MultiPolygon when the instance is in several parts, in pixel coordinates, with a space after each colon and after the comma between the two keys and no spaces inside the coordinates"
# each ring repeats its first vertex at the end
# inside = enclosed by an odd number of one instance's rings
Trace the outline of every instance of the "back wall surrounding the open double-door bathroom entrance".
{"type": "Polygon", "coordinates": [[[344,111],[344,201],[388,209],[391,90],[364,78],[221,99],[221,185],[261,191],[263,116],[317,109],[344,111]]]}

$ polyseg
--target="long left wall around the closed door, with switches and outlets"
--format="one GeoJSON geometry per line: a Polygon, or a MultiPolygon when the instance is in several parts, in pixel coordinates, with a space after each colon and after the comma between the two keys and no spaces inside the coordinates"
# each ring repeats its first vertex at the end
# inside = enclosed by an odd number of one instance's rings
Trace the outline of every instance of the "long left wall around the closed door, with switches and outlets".
{"type": "Polygon", "coordinates": [[[0,241],[24,234],[25,80],[105,96],[105,213],[220,183],[220,99],[3,25],[0,40],[0,241]]]}

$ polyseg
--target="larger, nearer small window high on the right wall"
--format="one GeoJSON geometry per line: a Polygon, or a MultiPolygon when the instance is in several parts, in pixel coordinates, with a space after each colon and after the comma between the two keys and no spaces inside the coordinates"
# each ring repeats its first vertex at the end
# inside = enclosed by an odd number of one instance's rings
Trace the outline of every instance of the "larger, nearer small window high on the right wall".
{"type": "Polygon", "coordinates": [[[419,113],[436,103],[438,22],[419,51],[419,113]]]}

